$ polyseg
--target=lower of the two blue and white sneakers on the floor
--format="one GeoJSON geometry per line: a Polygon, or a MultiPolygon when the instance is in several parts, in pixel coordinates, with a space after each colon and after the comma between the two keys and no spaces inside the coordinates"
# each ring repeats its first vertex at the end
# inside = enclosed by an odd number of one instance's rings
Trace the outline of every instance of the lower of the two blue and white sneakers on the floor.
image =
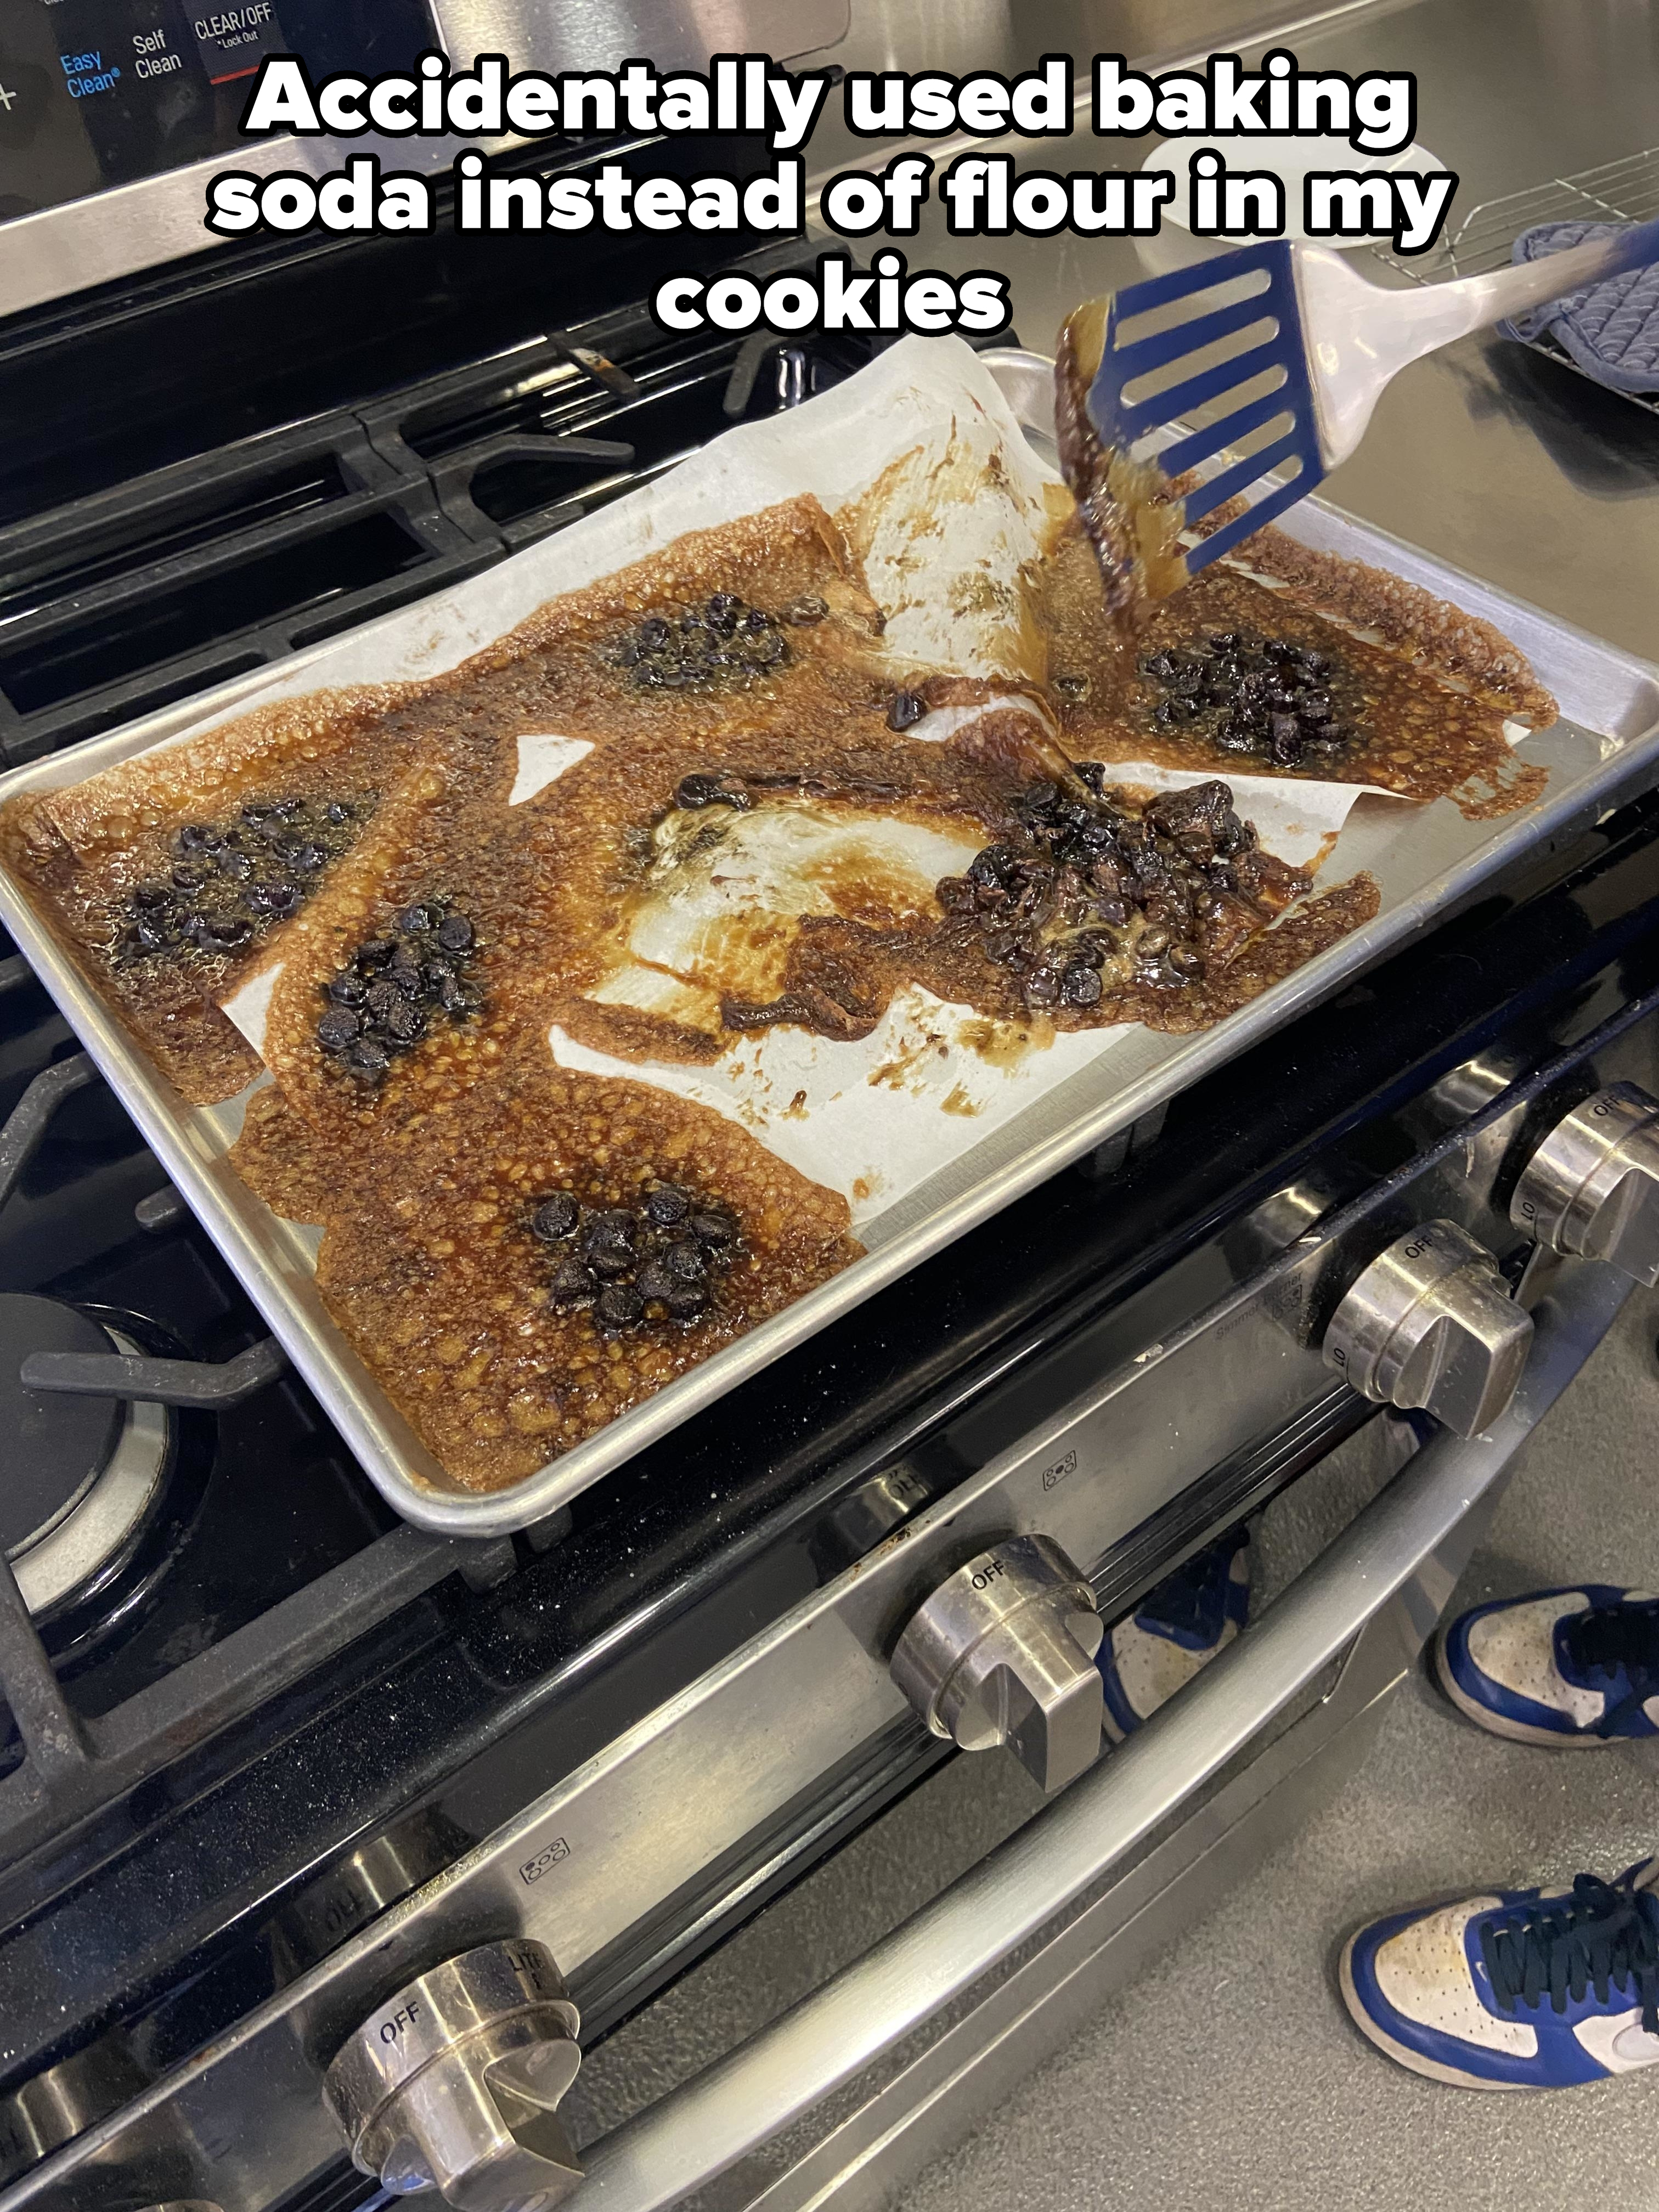
{"type": "Polygon", "coordinates": [[[1573,2088],[1659,2062],[1659,1896],[1579,1874],[1352,1936],[1343,2000],[1378,2051],[1460,2088],[1573,2088]]]}

